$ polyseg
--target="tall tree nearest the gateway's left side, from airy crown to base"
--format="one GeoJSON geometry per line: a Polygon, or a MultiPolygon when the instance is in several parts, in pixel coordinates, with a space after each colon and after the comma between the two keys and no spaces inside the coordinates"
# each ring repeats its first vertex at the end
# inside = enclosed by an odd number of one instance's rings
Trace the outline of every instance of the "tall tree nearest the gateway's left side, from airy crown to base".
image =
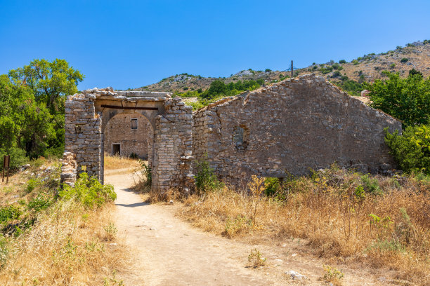
{"type": "Polygon", "coordinates": [[[32,114],[27,114],[29,118],[40,118],[34,112],[44,114],[45,121],[35,121],[30,129],[41,128],[46,132],[51,124],[54,132],[48,133],[54,136],[44,135],[44,139],[39,139],[39,135],[32,134],[25,138],[27,154],[30,156],[40,155],[39,152],[49,147],[51,154],[63,154],[64,147],[64,114],[65,96],[77,93],[77,84],[84,79],[80,71],[73,69],[66,60],[33,60],[29,65],[9,71],[9,79],[15,86],[29,88],[34,94],[33,100],[38,104],[38,109],[28,109],[32,114]],[[48,113],[42,107],[48,108],[48,113]],[[29,153],[30,152],[30,153],[29,153]]]}

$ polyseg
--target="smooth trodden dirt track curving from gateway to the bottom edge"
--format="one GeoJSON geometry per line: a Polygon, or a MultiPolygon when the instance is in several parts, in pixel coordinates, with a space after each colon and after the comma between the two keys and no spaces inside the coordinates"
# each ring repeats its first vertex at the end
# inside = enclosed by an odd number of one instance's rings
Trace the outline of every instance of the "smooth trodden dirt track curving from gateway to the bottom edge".
{"type": "Polygon", "coordinates": [[[136,252],[133,269],[120,275],[125,285],[275,285],[245,268],[249,245],[236,247],[193,229],[161,205],[143,203],[128,189],[134,183],[130,174],[105,175],[105,183],[117,192],[119,233],[136,252]]]}

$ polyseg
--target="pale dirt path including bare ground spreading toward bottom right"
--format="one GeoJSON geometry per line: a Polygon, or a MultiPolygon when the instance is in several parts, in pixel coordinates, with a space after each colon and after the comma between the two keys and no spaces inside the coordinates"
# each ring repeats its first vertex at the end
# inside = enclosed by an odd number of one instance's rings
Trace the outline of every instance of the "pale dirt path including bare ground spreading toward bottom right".
{"type": "MultiPolygon", "coordinates": [[[[105,183],[115,186],[117,228],[133,257],[118,273],[124,285],[327,285],[318,280],[318,259],[292,254],[285,245],[254,246],[195,229],[174,216],[175,206],[143,203],[128,189],[131,174],[107,172],[105,183]],[[247,267],[254,247],[266,255],[267,266],[247,267]],[[289,270],[306,280],[291,280],[289,270]]],[[[345,273],[344,285],[385,285],[363,269],[345,273]]]]}

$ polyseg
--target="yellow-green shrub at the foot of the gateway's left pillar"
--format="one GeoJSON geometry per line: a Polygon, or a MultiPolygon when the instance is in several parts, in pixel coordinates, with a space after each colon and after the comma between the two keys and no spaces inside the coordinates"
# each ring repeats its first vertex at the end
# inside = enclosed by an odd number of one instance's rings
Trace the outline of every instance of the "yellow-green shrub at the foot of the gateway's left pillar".
{"type": "Polygon", "coordinates": [[[58,195],[65,200],[77,200],[86,208],[100,207],[117,198],[112,185],[103,186],[96,177],[89,178],[86,172],[80,175],[74,187],[65,185],[58,195]]]}

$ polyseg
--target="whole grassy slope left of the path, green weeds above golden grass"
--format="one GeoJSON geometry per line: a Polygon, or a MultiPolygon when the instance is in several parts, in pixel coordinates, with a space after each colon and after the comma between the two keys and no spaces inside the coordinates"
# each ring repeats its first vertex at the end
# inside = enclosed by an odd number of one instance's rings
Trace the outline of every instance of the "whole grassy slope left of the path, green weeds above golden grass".
{"type": "Polygon", "coordinates": [[[91,210],[56,199],[60,163],[31,165],[0,184],[0,285],[116,285],[126,250],[115,238],[115,205],[91,210]],[[4,211],[10,206],[15,217],[4,211]]]}

